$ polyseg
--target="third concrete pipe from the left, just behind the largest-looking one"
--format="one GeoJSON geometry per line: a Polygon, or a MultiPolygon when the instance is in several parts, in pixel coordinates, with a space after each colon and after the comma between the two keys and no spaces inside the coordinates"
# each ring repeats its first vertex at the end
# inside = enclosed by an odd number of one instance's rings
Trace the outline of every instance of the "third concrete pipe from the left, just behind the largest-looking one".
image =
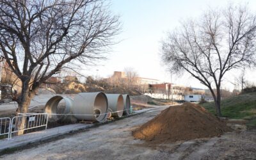
{"type": "Polygon", "coordinates": [[[120,94],[106,94],[108,97],[108,106],[113,111],[111,116],[121,117],[124,113],[124,98],[120,94]]]}

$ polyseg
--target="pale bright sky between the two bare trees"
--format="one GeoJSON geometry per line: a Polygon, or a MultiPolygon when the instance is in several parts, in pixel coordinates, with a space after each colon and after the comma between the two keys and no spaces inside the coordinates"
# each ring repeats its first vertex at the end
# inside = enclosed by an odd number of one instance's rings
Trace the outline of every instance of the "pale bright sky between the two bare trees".
{"type": "MultiPolygon", "coordinates": [[[[205,88],[196,79],[184,74],[172,75],[161,62],[161,40],[168,31],[179,26],[182,19],[196,18],[210,6],[213,8],[227,6],[228,3],[248,3],[256,12],[255,0],[112,0],[111,11],[120,15],[122,33],[116,36],[120,43],[114,45],[108,54],[108,60],[99,61],[96,67],[87,68],[84,73],[97,77],[108,77],[114,71],[134,68],[140,77],[159,79],[162,82],[205,88]]],[[[256,72],[246,70],[246,79],[255,81],[256,72]]],[[[234,81],[236,72],[225,77],[223,88],[232,90],[230,81],[234,81]]]]}

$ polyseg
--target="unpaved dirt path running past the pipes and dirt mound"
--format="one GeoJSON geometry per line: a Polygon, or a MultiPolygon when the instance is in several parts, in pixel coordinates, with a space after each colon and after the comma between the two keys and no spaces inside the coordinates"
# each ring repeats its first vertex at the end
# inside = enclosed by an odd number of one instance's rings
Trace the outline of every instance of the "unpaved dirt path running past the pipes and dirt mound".
{"type": "MultiPolygon", "coordinates": [[[[228,132],[162,145],[134,140],[131,131],[161,109],[131,116],[37,147],[1,156],[2,159],[255,159],[256,131],[228,132]]],[[[180,133],[182,134],[182,133],[180,133]]]]}

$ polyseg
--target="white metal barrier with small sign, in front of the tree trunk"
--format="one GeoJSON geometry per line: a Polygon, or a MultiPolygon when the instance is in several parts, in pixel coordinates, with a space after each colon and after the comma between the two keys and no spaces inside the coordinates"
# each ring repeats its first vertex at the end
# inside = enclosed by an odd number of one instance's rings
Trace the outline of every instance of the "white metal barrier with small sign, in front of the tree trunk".
{"type": "Polygon", "coordinates": [[[37,113],[37,114],[21,114],[20,116],[14,116],[12,118],[12,123],[10,126],[10,138],[12,138],[12,134],[15,132],[23,131],[28,132],[31,129],[36,129],[39,127],[45,127],[47,129],[48,115],[47,113],[37,113]],[[21,123],[24,123],[22,125],[21,123]],[[22,129],[19,126],[23,126],[22,129]]]}

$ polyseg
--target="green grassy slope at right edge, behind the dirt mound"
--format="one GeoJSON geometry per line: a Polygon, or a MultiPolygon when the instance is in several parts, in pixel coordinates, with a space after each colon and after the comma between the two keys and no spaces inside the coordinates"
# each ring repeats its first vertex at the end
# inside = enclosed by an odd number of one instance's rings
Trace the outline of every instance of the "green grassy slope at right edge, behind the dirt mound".
{"type": "MultiPolygon", "coordinates": [[[[202,106],[215,114],[214,102],[207,102],[202,106]]],[[[256,126],[256,93],[245,93],[221,100],[222,115],[234,119],[248,119],[248,125],[256,126]]]]}

